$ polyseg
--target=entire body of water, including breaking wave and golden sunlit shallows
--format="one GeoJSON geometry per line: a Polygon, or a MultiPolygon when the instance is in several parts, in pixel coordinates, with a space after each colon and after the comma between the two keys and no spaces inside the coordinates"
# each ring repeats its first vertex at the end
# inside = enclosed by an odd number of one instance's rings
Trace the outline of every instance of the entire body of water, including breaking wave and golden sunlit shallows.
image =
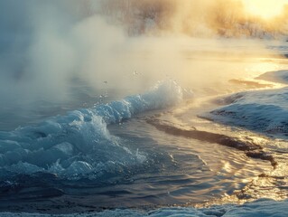
{"type": "MultiPolygon", "coordinates": [[[[246,67],[261,62],[248,61],[246,67]]],[[[237,80],[216,94],[257,88],[255,83],[237,80]]],[[[216,97],[215,89],[192,94],[168,79],[135,95],[128,94],[130,90],[92,90],[79,84],[71,101],[52,106],[42,101],[35,108],[38,112],[30,110],[16,118],[6,109],[0,132],[0,210],[87,212],[227,203],[235,201],[233,196],[237,203],[262,198],[265,184],[257,183],[258,175],[283,172],[284,155],[274,155],[282,165],[273,170],[270,161],[220,146],[218,140],[177,134],[197,128],[243,143],[260,141],[257,144],[265,146],[266,153],[275,150],[269,143],[285,143],[200,118],[199,114],[218,107],[210,100],[216,97]],[[176,133],[147,120],[174,127],[176,133]],[[246,194],[241,198],[242,190],[246,194]]],[[[264,180],[269,181],[260,181],[264,180]]],[[[271,194],[283,199],[285,192],[271,194]]]]}

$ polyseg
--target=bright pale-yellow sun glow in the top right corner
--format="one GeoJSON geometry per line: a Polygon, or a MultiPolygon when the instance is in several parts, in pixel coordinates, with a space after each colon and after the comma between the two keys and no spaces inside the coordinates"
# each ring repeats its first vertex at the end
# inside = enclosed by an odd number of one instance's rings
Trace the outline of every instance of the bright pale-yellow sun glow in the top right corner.
{"type": "Polygon", "coordinates": [[[282,14],[283,6],[288,0],[242,0],[248,13],[261,16],[264,19],[274,18],[282,14]]]}

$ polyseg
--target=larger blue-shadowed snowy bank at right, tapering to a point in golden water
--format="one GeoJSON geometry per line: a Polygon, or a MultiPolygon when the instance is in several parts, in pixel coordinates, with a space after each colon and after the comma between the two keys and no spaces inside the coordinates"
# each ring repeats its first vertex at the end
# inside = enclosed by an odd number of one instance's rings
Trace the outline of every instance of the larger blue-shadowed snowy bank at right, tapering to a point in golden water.
{"type": "Polygon", "coordinates": [[[246,91],[220,99],[224,107],[205,118],[274,136],[288,136],[288,88],[246,91]]]}

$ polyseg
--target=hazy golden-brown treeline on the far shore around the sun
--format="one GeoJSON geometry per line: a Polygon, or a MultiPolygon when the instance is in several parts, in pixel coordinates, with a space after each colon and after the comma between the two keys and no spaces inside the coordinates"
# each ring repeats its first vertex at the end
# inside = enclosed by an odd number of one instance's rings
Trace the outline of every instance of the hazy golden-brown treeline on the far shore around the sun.
{"type": "Polygon", "coordinates": [[[102,14],[131,34],[274,38],[288,33],[287,0],[105,0],[102,5],[102,14]],[[265,13],[269,5],[279,12],[269,20],[251,11],[265,13]]]}

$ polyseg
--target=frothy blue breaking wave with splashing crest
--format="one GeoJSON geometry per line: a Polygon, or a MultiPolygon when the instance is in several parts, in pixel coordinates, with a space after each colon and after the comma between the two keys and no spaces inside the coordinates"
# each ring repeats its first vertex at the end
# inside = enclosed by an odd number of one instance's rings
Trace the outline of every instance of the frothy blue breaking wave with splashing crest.
{"type": "Polygon", "coordinates": [[[158,82],[144,94],[48,118],[36,126],[0,132],[0,178],[10,174],[54,173],[68,179],[98,178],[141,164],[144,154],[110,135],[107,125],[181,101],[183,90],[172,80],[158,82]],[[165,96],[165,97],[163,97],[165,96]],[[8,174],[9,174],[8,173],[8,174]]]}

